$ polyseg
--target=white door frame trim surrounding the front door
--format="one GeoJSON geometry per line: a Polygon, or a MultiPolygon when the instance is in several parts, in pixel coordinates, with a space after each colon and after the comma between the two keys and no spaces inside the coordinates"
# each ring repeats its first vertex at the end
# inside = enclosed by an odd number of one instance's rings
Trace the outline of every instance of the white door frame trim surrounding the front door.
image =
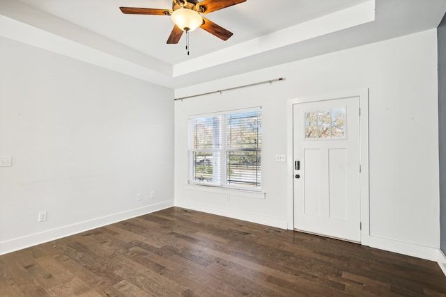
{"type": "MultiPolygon", "coordinates": [[[[293,105],[330,99],[342,99],[359,97],[360,104],[360,214],[361,214],[361,239],[363,245],[369,245],[370,241],[370,216],[369,216],[369,89],[350,90],[340,93],[327,93],[312,97],[297,97],[288,100],[287,110],[287,229],[294,230],[294,171],[293,171],[293,105]]],[[[359,170],[359,168],[358,168],[359,170]]]]}

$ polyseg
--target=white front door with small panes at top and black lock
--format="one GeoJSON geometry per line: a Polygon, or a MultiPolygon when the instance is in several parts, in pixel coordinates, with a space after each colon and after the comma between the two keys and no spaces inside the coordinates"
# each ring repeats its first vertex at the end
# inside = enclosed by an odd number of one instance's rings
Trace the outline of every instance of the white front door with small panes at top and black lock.
{"type": "Polygon", "coordinates": [[[360,234],[359,97],[293,105],[294,228],[360,234]]]}

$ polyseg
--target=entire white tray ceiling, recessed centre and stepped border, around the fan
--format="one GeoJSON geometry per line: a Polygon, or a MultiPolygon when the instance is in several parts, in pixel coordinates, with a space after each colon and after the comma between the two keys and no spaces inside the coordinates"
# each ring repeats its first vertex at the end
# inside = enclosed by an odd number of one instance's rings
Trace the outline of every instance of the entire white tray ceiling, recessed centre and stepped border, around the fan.
{"type": "Polygon", "coordinates": [[[0,35],[169,88],[436,28],[446,0],[247,0],[206,15],[233,32],[197,29],[167,45],[170,17],[120,6],[170,0],[0,0],[0,35]]]}

